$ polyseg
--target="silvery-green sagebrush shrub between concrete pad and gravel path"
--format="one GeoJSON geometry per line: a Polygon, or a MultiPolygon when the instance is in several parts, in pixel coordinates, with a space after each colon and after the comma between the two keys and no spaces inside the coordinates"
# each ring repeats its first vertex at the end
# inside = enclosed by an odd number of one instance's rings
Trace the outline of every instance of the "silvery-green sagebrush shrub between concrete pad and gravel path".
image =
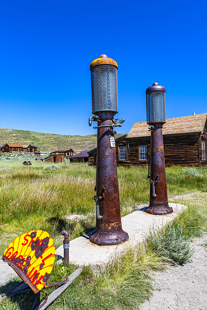
{"type": "Polygon", "coordinates": [[[153,227],[150,231],[149,242],[155,250],[172,259],[176,264],[186,263],[194,250],[190,248],[190,241],[182,237],[182,225],[175,228],[169,224],[167,229],[159,232],[153,227]]]}

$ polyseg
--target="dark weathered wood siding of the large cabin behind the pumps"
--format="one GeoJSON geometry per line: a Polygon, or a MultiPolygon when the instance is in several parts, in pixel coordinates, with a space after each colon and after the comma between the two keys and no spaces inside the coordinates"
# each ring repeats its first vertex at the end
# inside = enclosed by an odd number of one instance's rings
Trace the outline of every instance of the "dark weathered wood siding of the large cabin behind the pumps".
{"type": "MultiPolygon", "coordinates": [[[[207,128],[205,128],[204,137],[207,138],[207,128]]],[[[164,135],[164,157],[165,165],[193,165],[193,166],[206,166],[207,160],[201,160],[201,146],[200,146],[200,133],[193,134],[174,134],[164,135]],[[199,152],[200,150],[200,152],[199,152]],[[200,156],[200,161],[199,161],[200,156]]],[[[125,138],[116,142],[116,160],[117,166],[140,166],[148,165],[147,160],[139,159],[139,147],[140,145],[147,145],[147,158],[150,159],[150,136],[125,138]],[[126,146],[127,157],[126,160],[119,160],[119,147],[126,146]]],[[[205,148],[207,148],[205,142],[205,148]]],[[[96,149],[90,151],[89,165],[94,165],[94,153],[96,149]]]]}

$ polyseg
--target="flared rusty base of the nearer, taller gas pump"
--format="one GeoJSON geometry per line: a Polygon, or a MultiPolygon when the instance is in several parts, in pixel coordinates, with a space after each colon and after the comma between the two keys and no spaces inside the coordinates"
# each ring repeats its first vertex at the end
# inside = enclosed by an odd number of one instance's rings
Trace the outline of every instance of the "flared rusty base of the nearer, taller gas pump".
{"type": "Polygon", "coordinates": [[[129,238],[128,233],[124,232],[124,230],[121,227],[117,229],[117,226],[116,227],[98,226],[96,232],[90,237],[90,241],[99,246],[112,246],[123,243],[127,241],[128,238],[129,238]]]}

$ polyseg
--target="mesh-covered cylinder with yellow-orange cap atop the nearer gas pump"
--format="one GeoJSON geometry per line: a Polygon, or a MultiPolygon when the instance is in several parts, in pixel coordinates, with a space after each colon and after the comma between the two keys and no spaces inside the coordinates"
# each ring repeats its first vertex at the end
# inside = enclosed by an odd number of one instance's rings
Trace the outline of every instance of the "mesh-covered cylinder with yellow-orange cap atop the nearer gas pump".
{"type": "Polygon", "coordinates": [[[92,113],[118,113],[117,69],[115,60],[101,55],[91,63],[92,113]]]}

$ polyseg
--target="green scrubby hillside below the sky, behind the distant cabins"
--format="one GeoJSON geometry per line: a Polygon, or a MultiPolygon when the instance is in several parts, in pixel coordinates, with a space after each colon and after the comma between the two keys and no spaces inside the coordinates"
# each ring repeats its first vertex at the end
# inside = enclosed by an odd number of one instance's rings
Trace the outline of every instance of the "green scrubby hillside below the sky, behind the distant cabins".
{"type": "MultiPolygon", "coordinates": [[[[94,125],[95,126],[95,125],[94,125]]],[[[54,151],[61,148],[72,148],[75,152],[91,150],[97,146],[95,131],[92,135],[56,135],[43,132],[0,128],[0,142],[15,144],[33,144],[41,151],[54,151]]],[[[117,133],[115,138],[124,135],[117,133]]]]}

